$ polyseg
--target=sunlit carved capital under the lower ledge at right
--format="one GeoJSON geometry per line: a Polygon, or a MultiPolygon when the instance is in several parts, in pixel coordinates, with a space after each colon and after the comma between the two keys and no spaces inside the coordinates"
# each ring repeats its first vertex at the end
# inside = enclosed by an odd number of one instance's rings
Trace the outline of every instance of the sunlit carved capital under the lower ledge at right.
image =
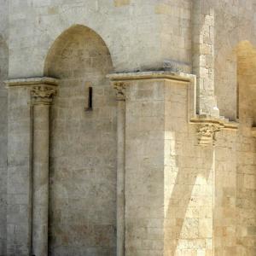
{"type": "Polygon", "coordinates": [[[197,135],[198,135],[198,143],[201,146],[214,145],[215,144],[215,135],[216,132],[220,131],[222,125],[219,124],[201,124],[198,127],[197,135]]]}

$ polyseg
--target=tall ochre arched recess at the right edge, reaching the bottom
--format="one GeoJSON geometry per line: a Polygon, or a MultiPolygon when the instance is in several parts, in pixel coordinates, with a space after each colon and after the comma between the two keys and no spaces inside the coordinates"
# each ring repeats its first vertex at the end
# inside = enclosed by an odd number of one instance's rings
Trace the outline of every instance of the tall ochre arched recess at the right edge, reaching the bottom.
{"type": "Polygon", "coordinates": [[[236,47],[239,131],[236,167],[236,241],[239,255],[255,255],[256,243],[256,48],[248,41],[236,47]]]}

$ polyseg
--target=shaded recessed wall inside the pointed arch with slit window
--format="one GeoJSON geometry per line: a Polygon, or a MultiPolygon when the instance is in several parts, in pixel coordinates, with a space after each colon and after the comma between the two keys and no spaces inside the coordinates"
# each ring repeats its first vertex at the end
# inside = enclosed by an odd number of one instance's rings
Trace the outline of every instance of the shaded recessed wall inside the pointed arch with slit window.
{"type": "Polygon", "coordinates": [[[50,117],[50,255],[116,249],[116,101],[106,44],[73,26],[49,51],[45,75],[61,79],[50,117]],[[89,87],[92,109],[88,108],[89,87]]]}

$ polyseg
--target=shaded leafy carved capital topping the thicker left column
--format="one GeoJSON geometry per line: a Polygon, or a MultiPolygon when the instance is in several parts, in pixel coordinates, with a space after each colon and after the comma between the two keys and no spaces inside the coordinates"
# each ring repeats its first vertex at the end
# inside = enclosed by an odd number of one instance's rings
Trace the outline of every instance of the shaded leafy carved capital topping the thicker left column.
{"type": "Polygon", "coordinates": [[[53,97],[56,94],[56,90],[52,87],[40,85],[32,88],[32,103],[33,104],[51,104],[53,97]]]}

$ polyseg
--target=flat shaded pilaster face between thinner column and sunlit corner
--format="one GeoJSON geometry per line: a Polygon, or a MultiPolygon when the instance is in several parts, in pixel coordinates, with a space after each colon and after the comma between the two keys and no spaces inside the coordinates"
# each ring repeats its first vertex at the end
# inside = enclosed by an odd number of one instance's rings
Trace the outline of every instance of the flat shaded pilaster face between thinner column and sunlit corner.
{"type": "Polygon", "coordinates": [[[163,255],[165,82],[126,86],[125,255],[163,255]]]}

